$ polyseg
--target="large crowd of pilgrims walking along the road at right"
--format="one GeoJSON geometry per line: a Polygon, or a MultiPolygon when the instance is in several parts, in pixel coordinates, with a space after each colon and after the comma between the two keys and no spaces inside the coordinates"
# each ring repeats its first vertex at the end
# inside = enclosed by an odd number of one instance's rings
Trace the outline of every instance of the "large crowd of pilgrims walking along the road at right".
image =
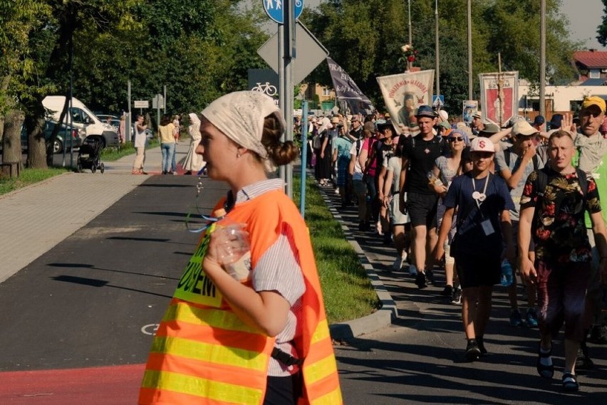
{"type": "Polygon", "coordinates": [[[480,112],[455,122],[429,105],[410,127],[379,113],[311,117],[308,165],[342,209],[357,206],[359,231],[395,247],[391,270],[408,262],[423,289],[444,269],[442,295],[462,305],[468,361],[487,353],[501,283],[510,324],[539,327],[543,378],[554,376],[552,342],[564,325],[561,383],[577,391],[576,368],[593,366],[588,337],[607,343],[605,115],[605,100],[589,96],[576,116],[513,117],[504,127],[480,112]]]}

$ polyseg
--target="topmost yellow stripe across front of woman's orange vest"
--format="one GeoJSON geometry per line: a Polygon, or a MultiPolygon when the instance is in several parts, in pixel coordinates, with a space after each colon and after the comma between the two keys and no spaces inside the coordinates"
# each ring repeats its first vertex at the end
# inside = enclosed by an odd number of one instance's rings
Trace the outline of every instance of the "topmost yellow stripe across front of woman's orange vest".
{"type": "Polygon", "coordinates": [[[234,312],[217,309],[201,309],[192,307],[185,303],[177,303],[171,305],[165,316],[162,318],[164,322],[180,321],[187,322],[192,325],[202,325],[209,327],[219,327],[226,330],[236,330],[241,332],[251,332],[259,335],[259,332],[254,330],[242,322],[234,312]]]}

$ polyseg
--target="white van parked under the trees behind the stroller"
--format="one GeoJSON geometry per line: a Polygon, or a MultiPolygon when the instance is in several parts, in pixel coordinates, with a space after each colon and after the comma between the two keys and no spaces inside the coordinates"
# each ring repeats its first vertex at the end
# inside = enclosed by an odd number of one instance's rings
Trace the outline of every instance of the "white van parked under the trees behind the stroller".
{"type": "MultiPolygon", "coordinates": [[[[51,112],[51,120],[58,122],[61,116],[61,110],[63,110],[63,104],[66,102],[66,96],[64,95],[47,95],[42,100],[42,105],[51,112]]],[[[115,127],[101,122],[99,118],[93,114],[92,111],[86,107],[86,105],[78,100],[72,98],[72,107],[70,110],[72,125],[76,128],[84,130],[85,136],[88,135],[102,135],[104,144],[115,145],[118,144],[118,132],[115,127]]],[[[70,117],[66,115],[64,120],[66,125],[69,125],[70,117]]]]}

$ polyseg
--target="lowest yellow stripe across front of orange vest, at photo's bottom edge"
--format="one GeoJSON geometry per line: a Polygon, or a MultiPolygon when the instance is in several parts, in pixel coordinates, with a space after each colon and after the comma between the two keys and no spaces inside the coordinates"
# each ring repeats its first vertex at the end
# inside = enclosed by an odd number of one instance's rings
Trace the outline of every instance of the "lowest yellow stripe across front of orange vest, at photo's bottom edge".
{"type": "Polygon", "coordinates": [[[261,389],[154,370],[146,370],[142,386],[151,389],[167,389],[232,404],[259,404],[263,394],[261,389]]]}

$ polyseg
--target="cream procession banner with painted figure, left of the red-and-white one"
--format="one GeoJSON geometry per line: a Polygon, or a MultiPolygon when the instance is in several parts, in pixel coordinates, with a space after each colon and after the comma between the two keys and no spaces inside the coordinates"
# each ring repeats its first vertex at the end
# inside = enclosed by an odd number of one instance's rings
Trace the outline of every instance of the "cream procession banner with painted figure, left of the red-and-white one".
{"type": "Polygon", "coordinates": [[[398,135],[417,132],[417,107],[432,105],[434,70],[380,76],[377,80],[398,135]]]}

